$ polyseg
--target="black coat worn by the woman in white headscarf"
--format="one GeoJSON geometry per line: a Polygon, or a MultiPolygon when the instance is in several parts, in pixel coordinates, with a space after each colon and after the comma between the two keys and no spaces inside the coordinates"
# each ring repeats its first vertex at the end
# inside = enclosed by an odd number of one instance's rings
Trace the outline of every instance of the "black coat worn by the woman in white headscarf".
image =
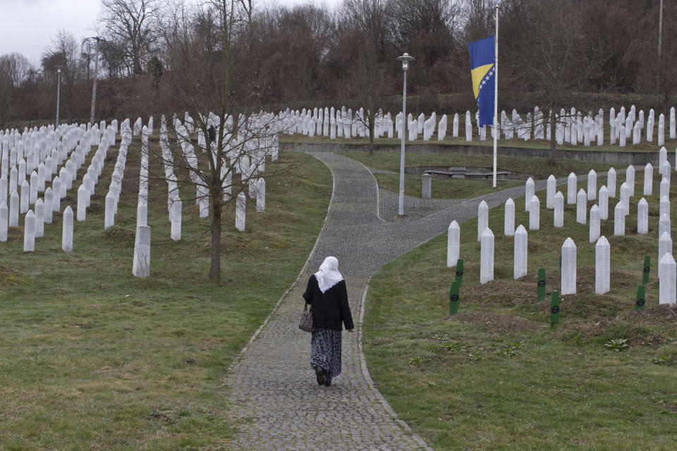
{"type": "Polygon", "coordinates": [[[353,329],[353,315],[348,306],[346,281],[341,280],[324,293],[319,290],[315,274],[308,279],[303,299],[310,304],[312,325],[315,328],[341,330],[341,322],[346,329],[353,329]]]}

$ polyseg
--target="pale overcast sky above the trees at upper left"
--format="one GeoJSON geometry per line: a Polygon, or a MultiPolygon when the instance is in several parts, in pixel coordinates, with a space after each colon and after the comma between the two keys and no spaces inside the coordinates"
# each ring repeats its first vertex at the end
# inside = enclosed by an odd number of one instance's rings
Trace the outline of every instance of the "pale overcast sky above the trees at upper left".
{"type": "MultiPolygon", "coordinates": [[[[336,4],[339,0],[265,0],[278,4],[336,4]]],[[[80,42],[96,35],[101,0],[0,0],[0,55],[16,51],[38,64],[58,30],[80,42]]]]}

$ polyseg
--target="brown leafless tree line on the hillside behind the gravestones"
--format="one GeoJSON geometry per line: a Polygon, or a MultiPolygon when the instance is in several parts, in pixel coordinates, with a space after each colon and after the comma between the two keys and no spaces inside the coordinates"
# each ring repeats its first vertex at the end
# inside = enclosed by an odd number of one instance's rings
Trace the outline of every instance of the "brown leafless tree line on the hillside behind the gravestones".
{"type": "MultiPolygon", "coordinates": [[[[677,4],[664,2],[661,56],[659,0],[513,0],[499,9],[499,107],[598,108],[632,103],[659,110],[677,95],[677,4]],[[630,101],[628,100],[628,101],[630,101]],[[615,103],[614,103],[615,102],[615,103]]],[[[412,113],[473,108],[468,42],[494,34],[487,0],[343,0],[325,6],[259,6],[232,0],[228,53],[217,10],[206,1],[103,0],[98,49],[61,31],[39,66],[13,53],[0,56],[0,127],[53,120],[56,66],[61,118],[89,116],[94,58],[99,58],[97,118],[148,115],[180,108],[168,75],[195,77],[190,61],[172,57],[177,35],[190,37],[205,70],[198,89],[223,89],[242,109],[324,105],[398,111],[401,66],[408,73],[412,113]],[[228,59],[228,64],[217,60],[228,59]]],[[[214,107],[221,94],[214,95],[214,107]]]]}

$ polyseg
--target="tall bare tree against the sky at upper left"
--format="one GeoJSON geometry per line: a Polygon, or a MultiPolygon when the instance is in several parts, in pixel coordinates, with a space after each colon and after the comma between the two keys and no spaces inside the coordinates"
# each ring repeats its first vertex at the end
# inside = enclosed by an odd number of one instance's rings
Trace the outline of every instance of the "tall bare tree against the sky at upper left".
{"type": "Polygon", "coordinates": [[[106,38],[123,44],[130,73],[143,73],[146,59],[159,39],[158,0],[102,0],[106,38]]]}

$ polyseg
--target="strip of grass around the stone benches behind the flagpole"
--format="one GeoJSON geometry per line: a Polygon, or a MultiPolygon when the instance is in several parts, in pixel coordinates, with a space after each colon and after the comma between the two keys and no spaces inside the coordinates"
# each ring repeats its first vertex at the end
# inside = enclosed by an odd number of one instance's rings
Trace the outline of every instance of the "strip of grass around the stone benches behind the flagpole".
{"type": "MultiPolygon", "coordinates": [[[[384,169],[393,173],[375,173],[374,177],[379,182],[379,187],[384,190],[398,192],[400,155],[394,152],[374,152],[370,156],[366,152],[342,152],[360,161],[370,168],[384,169]]],[[[547,163],[547,159],[536,157],[503,156],[499,159],[499,171],[511,171],[517,173],[524,180],[532,177],[535,180],[544,180],[550,174],[556,177],[566,177],[569,173],[580,175],[587,174],[594,169],[598,174],[606,174],[611,165],[609,163],[597,163],[595,161],[557,160],[554,165],[547,163]]],[[[491,156],[458,155],[458,154],[406,154],[406,166],[465,166],[474,168],[488,168],[492,171],[493,160],[491,156]]],[[[617,168],[618,169],[618,168],[617,168]]],[[[498,190],[523,185],[523,180],[498,180],[498,190]]],[[[421,197],[420,175],[405,175],[404,192],[413,197],[421,197]]],[[[619,185],[620,186],[620,185],[619,185]]],[[[492,187],[492,180],[464,180],[458,178],[433,178],[433,199],[470,199],[496,191],[492,187]]]]}

